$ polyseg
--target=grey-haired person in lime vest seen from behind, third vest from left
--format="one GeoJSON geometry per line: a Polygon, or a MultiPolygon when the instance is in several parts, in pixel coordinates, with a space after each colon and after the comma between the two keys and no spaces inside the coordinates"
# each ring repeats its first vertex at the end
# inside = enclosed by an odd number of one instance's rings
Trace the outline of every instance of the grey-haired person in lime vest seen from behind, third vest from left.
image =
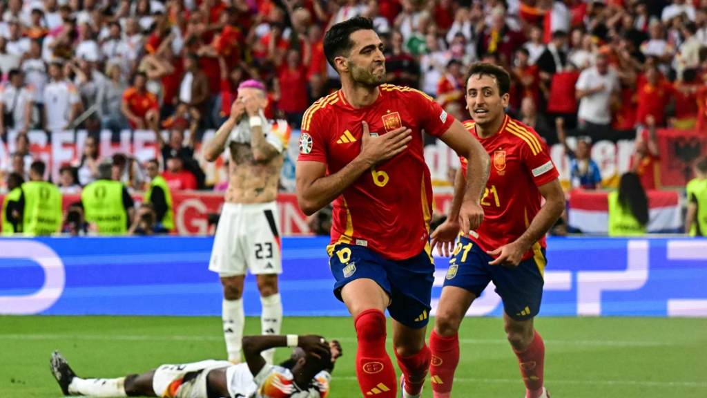
{"type": "Polygon", "coordinates": [[[111,171],[110,163],[98,165],[98,180],[83,188],[84,217],[99,235],[125,235],[135,217],[135,203],[123,183],[111,180],[111,171]]]}

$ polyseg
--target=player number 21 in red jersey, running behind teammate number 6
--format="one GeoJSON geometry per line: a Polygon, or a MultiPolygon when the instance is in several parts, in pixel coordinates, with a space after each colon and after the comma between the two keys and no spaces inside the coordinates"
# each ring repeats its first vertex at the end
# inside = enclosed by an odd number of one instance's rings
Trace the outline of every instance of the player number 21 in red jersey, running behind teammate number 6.
{"type": "MultiPolygon", "coordinates": [[[[489,153],[493,166],[481,199],[484,222],[470,234],[462,232],[442,288],[430,336],[435,398],[450,397],[459,363],[457,331],[491,281],[503,299],[503,328],[518,356],[525,397],[549,397],[543,387],[545,348],[533,317],[542,300],[544,236],[562,214],[564,194],[543,140],[532,127],[504,112],[509,89],[508,72],[495,65],[474,64],[467,73],[467,108],[473,120],[464,125],[489,153]]],[[[449,254],[459,234],[456,216],[467,170],[462,158],[448,220],[432,234],[432,246],[438,245],[440,254],[449,254]]]]}

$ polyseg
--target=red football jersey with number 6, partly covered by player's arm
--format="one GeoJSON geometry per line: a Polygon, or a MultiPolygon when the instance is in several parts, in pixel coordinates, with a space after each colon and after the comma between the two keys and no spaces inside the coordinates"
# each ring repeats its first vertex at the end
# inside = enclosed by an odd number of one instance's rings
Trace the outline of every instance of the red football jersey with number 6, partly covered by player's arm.
{"type": "Polygon", "coordinates": [[[409,127],[407,150],[363,173],[334,200],[332,215],[332,245],[358,244],[383,258],[403,260],[428,244],[432,184],[422,130],[439,137],[453,118],[421,91],[390,84],[378,89],[378,98],[364,108],[351,106],[341,91],[314,103],[302,120],[299,160],[326,163],[327,175],[334,174],[361,152],[361,122],[378,135],[409,127]]]}

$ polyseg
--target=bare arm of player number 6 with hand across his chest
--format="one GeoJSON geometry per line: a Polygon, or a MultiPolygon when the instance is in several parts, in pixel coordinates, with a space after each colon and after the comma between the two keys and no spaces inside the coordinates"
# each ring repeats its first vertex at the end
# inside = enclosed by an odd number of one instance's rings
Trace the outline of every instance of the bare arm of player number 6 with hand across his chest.
{"type": "Polygon", "coordinates": [[[317,210],[344,193],[354,181],[376,164],[387,161],[407,149],[412,130],[400,127],[380,137],[371,137],[368,123],[363,122],[361,153],[337,173],[326,176],[327,164],[298,161],[296,167],[297,202],[305,215],[317,210]]]}

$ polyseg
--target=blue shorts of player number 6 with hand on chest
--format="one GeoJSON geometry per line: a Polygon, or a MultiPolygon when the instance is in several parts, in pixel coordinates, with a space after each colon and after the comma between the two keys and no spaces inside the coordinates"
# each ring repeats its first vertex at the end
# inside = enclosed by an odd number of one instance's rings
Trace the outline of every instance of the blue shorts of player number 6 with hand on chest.
{"type": "Polygon", "coordinates": [[[435,266],[427,249],[407,260],[392,261],[363,246],[337,244],[329,268],[337,280],[334,295],[339,300],[346,283],[372,279],[390,295],[388,312],[392,319],[414,329],[427,325],[435,281],[435,266]]]}

